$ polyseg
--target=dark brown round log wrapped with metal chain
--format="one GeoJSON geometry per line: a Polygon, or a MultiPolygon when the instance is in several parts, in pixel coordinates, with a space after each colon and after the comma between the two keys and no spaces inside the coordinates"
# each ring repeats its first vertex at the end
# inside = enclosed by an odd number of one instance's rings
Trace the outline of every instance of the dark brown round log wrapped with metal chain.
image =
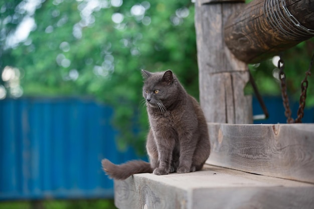
{"type": "Polygon", "coordinates": [[[314,36],[314,1],[254,0],[232,14],[225,42],[243,62],[257,63],[314,36]]]}

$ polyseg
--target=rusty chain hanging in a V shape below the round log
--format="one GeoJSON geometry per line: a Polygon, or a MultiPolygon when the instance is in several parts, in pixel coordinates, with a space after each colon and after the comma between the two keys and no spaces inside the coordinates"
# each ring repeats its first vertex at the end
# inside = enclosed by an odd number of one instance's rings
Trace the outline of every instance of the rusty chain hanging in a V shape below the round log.
{"type": "Polygon", "coordinates": [[[293,118],[291,118],[291,109],[289,106],[289,98],[287,95],[287,87],[286,87],[286,83],[285,83],[285,73],[283,72],[284,62],[280,56],[280,59],[278,61],[279,80],[280,80],[282,103],[283,103],[283,107],[285,109],[284,115],[287,118],[287,123],[302,123],[302,118],[304,115],[305,100],[306,100],[306,90],[308,87],[307,76],[311,75],[310,70],[311,70],[312,65],[313,65],[313,59],[314,59],[314,54],[311,58],[309,68],[305,72],[305,78],[301,82],[301,95],[300,95],[300,100],[299,100],[299,107],[297,110],[297,118],[295,120],[293,120],[293,118]]]}

